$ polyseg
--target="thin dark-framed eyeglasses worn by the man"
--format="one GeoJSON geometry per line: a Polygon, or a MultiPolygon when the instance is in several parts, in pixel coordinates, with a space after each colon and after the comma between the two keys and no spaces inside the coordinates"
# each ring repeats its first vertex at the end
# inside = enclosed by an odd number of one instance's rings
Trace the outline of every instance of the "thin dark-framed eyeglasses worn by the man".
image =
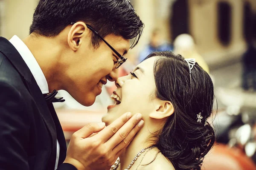
{"type": "MultiPolygon", "coordinates": [[[[75,23],[70,23],[71,25],[75,24],[75,23]]],[[[116,67],[115,68],[119,68],[124,62],[126,62],[127,58],[125,59],[124,57],[122,57],[121,54],[119,54],[119,52],[117,52],[106,40],[104,40],[104,38],[102,38],[99,33],[97,31],[95,31],[91,26],[89,25],[86,25],[87,28],[89,28],[91,31],[94,32],[94,34],[98,35],[100,37],[100,39],[105,42],[106,45],[108,45],[109,48],[111,48],[111,50],[118,56],[116,57],[117,61],[115,61],[115,65],[116,67]]]]}

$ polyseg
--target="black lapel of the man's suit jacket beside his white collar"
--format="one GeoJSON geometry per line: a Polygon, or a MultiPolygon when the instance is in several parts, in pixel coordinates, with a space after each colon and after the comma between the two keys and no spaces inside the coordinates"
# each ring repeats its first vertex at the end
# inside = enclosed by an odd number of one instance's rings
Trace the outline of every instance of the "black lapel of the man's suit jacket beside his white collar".
{"type": "Polygon", "coordinates": [[[56,129],[55,124],[52,119],[52,115],[49,111],[49,108],[47,106],[47,103],[44,100],[44,96],[41,93],[40,88],[38,87],[38,84],[35,81],[35,78],[33,77],[31,71],[29,70],[28,66],[26,65],[26,62],[22,59],[16,48],[10,43],[8,40],[6,40],[3,37],[0,37],[0,52],[3,53],[7,59],[14,65],[17,72],[20,74],[21,77],[25,80],[24,83],[32,95],[35,103],[38,106],[38,110],[41,113],[41,116],[45,122],[45,125],[47,126],[51,139],[52,139],[52,154],[49,162],[49,166],[52,167],[51,169],[54,169],[55,165],[55,159],[56,159],[56,129]],[[55,158],[54,158],[55,156],[55,158]]]}

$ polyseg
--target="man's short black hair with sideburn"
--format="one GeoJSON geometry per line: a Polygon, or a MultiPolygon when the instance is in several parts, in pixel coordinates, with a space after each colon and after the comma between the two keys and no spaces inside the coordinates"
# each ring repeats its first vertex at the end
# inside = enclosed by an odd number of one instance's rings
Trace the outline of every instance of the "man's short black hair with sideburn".
{"type": "MultiPolygon", "coordinates": [[[[129,0],[39,0],[35,8],[30,34],[55,37],[72,22],[83,21],[102,37],[108,34],[139,41],[144,24],[129,0]]],[[[101,39],[92,34],[93,46],[101,39]]]]}

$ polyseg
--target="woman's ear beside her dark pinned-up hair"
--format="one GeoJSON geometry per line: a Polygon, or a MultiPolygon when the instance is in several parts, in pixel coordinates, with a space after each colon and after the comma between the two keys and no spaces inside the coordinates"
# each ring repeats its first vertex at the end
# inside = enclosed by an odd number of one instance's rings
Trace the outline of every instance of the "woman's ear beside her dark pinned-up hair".
{"type": "Polygon", "coordinates": [[[155,111],[149,114],[149,117],[153,119],[164,119],[172,115],[174,113],[174,108],[172,102],[163,101],[157,99],[157,102],[154,102],[155,111]]]}

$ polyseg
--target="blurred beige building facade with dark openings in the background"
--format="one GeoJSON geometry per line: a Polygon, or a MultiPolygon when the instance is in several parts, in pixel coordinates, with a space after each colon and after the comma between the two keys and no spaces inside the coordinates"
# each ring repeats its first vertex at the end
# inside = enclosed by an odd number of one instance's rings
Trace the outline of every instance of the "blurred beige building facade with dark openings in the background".
{"type": "MultiPolygon", "coordinates": [[[[38,0],[0,0],[0,36],[21,39],[29,34],[38,0]]],[[[178,34],[191,34],[198,52],[209,66],[238,61],[246,50],[244,40],[245,4],[256,11],[255,0],[131,0],[145,23],[138,54],[158,28],[167,41],[178,34]],[[223,37],[224,36],[224,37],[223,37]]]]}

